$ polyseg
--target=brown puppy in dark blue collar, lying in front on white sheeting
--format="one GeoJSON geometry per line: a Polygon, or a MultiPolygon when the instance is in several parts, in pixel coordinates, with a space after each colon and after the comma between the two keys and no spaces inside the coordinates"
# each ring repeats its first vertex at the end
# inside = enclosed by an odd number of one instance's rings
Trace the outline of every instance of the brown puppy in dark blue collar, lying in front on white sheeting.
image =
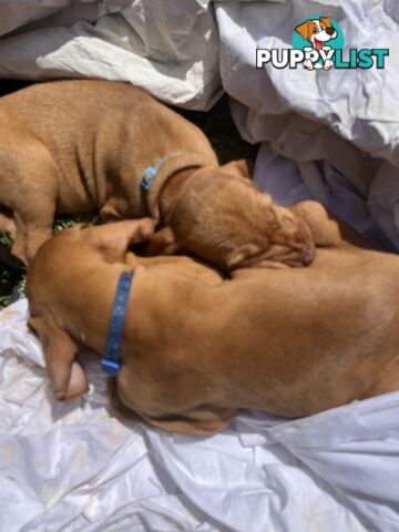
{"type": "Polygon", "coordinates": [[[44,244],[27,288],[54,396],[86,391],[78,347],[103,354],[129,270],[122,368],[110,386],[122,415],[201,434],[244,408],[300,417],[398,390],[399,258],[344,241],[346,227],[321,206],[300,208],[325,246],[314,264],[244,268],[233,279],[187,257],[126,254],[152,232],[147,219],[64,231],[44,244]]]}

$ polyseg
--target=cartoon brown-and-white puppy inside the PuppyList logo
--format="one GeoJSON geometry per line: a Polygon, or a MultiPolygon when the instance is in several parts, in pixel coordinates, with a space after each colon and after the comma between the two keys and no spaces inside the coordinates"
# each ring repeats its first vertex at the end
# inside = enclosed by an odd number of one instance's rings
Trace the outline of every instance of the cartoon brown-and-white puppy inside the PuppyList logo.
{"type": "MultiPolygon", "coordinates": [[[[295,28],[295,31],[297,31],[303,39],[309,41],[313,47],[311,49],[317,50],[318,52],[320,50],[330,50],[331,47],[327,47],[326,43],[332,39],[336,39],[337,37],[337,31],[335,30],[335,28],[332,28],[331,19],[329,17],[320,17],[319,19],[315,20],[306,20],[301,24],[297,25],[295,28]]],[[[305,50],[311,49],[309,48],[305,50]]],[[[317,68],[316,65],[314,66],[314,63],[310,60],[307,61],[306,64],[304,63],[304,65],[308,70],[317,68]]],[[[330,59],[326,60],[324,69],[329,70],[332,66],[334,62],[330,59]]]]}

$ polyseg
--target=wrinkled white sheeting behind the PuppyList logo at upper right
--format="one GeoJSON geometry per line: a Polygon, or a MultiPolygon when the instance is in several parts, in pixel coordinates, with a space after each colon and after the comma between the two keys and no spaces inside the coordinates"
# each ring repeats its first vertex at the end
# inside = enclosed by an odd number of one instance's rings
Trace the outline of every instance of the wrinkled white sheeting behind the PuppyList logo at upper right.
{"type": "MultiPolygon", "coordinates": [[[[232,112],[242,136],[296,161],[313,197],[321,203],[334,172],[335,182],[344,187],[347,183],[347,195],[356,194],[355,203],[367,211],[364,225],[399,250],[398,2],[266,0],[215,6],[222,82],[234,98],[232,112]],[[340,24],[346,51],[389,48],[386,68],[255,68],[257,48],[290,48],[295,25],[320,14],[340,24]]],[[[345,197],[338,194],[336,200],[345,197]]]]}

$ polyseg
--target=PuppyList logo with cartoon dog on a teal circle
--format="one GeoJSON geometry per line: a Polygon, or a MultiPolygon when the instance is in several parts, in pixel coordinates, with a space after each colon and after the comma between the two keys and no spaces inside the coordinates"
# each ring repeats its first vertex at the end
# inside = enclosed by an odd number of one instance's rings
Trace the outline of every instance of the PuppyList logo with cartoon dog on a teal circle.
{"type": "Polygon", "coordinates": [[[256,68],[270,63],[276,69],[311,70],[383,69],[388,48],[351,48],[344,52],[344,32],[329,17],[310,17],[295,27],[293,48],[256,50],[256,68]]]}

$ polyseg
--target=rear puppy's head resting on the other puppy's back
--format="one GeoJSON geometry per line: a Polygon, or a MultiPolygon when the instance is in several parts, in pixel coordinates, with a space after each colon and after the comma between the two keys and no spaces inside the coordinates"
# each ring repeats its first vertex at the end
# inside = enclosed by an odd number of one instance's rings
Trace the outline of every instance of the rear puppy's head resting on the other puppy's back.
{"type": "Polygon", "coordinates": [[[183,248],[224,270],[311,263],[315,246],[306,222],[258,192],[235,162],[201,168],[190,185],[173,223],[183,248]]]}

